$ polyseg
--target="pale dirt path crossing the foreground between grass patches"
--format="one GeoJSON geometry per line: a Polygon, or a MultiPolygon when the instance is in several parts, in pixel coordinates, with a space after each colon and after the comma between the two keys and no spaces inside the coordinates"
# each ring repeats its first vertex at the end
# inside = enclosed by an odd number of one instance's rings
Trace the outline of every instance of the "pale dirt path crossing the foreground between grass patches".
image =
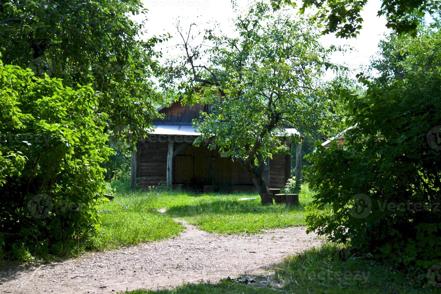
{"type": "Polygon", "coordinates": [[[286,255],[320,243],[315,235],[306,235],[304,227],[219,235],[179,221],[187,230],[175,239],[90,253],[40,268],[0,269],[0,293],[112,293],[259,275],[286,255]]]}

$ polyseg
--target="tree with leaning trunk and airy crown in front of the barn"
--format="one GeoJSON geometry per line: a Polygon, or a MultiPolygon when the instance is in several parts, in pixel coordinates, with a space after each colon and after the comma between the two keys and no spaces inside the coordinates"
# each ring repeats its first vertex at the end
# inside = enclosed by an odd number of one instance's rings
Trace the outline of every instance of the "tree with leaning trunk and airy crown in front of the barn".
{"type": "MultiPolygon", "coordinates": [[[[185,57],[170,75],[183,81],[183,100],[212,104],[211,112],[194,121],[212,149],[227,152],[249,172],[260,194],[268,193],[264,180],[267,158],[288,152],[285,127],[304,130],[320,124],[332,113],[322,81],[331,64],[318,33],[305,19],[269,11],[262,2],[235,21],[237,37],[217,36],[207,30],[205,41],[191,47],[191,29],[181,33],[185,57]],[[199,63],[207,60],[206,63],[199,63]],[[176,76],[173,76],[177,73],[176,76]]],[[[338,123],[339,120],[332,120],[338,123]]]]}

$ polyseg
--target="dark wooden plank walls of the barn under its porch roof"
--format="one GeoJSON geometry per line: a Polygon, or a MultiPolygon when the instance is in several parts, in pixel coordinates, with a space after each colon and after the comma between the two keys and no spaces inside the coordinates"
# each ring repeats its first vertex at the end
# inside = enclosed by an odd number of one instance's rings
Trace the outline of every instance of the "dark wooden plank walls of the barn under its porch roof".
{"type": "MultiPolygon", "coordinates": [[[[140,143],[138,160],[139,186],[157,186],[167,180],[168,143],[140,143]]],[[[179,144],[174,145],[178,149],[179,144]]],[[[291,173],[290,159],[285,155],[274,155],[269,161],[270,188],[284,188],[291,173]],[[289,166],[288,166],[289,164],[289,166]],[[288,175],[287,175],[288,172],[288,175]]],[[[228,157],[206,146],[187,145],[173,159],[173,183],[184,184],[195,189],[204,185],[217,186],[221,191],[255,191],[247,171],[228,157]]]]}

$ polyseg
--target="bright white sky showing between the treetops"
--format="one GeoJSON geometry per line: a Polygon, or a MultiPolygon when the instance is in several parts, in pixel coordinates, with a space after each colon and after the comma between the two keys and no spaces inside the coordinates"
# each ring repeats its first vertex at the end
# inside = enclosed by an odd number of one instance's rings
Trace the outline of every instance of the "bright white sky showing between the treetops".
{"type": "MultiPolygon", "coordinates": [[[[194,22],[198,24],[199,30],[213,27],[217,22],[219,28],[224,33],[228,33],[232,30],[232,19],[236,15],[230,0],[142,0],[142,2],[144,7],[149,9],[146,22],[148,36],[163,33],[170,33],[173,36],[166,44],[157,48],[163,51],[164,57],[176,57],[182,54],[174,47],[179,41],[176,30],[178,20],[183,29],[188,29],[194,22]]],[[[249,1],[237,0],[237,3],[241,9],[244,9],[249,1]]],[[[369,63],[370,57],[378,51],[378,42],[387,32],[385,18],[377,17],[380,6],[380,0],[368,0],[362,13],[363,30],[356,39],[340,39],[333,35],[322,37],[325,46],[348,44],[355,49],[344,54],[335,54],[333,62],[346,63],[353,70],[369,63]]],[[[142,15],[142,18],[144,17],[142,15]]],[[[141,17],[135,17],[135,20],[140,21],[141,17]]]]}

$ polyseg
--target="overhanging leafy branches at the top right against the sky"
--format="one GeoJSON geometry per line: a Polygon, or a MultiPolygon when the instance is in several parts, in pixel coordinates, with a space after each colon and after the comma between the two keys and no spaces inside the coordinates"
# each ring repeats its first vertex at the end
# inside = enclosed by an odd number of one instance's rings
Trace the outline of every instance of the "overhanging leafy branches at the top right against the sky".
{"type": "MultiPolygon", "coordinates": [[[[362,28],[363,18],[360,12],[368,0],[304,0],[300,12],[307,8],[317,8],[316,17],[320,26],[324,26],[323,33],[336,33],[340,37],[355,37],[362,28]]],[[[297,7],[300,1],[271,0],[274,9],[283,5],[297,7]]],[[[383,0],[378,15],[385,15],[387,27],[398,33],[416,34],[418,25],[422,22],[425,13],[440,14],[439,0],[383,0]]]]}

